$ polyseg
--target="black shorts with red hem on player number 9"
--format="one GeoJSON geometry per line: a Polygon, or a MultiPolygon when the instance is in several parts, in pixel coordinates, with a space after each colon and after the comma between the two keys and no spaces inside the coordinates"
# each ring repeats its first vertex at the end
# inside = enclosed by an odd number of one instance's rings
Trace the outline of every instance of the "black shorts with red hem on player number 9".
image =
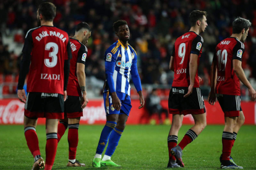
{"type": "Polygon", "coordinates": [[[172,87],[169,93],[169,113],[178,115],[198,115],[205,113],[205,103],[200,88],[194,87],[192,94],[184,98],[188,87],[172,87]]]}

